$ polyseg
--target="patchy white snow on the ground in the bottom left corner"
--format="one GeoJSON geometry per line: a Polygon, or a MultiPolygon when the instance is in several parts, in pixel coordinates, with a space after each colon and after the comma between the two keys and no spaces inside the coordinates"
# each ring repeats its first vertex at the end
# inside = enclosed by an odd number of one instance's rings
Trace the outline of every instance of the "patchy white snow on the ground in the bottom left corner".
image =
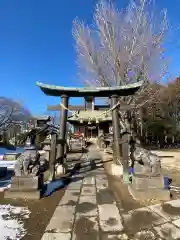
{"type": "Polygon", "coordinates": [[[29,215],[28,208],[0,205],[0,239],[21,239],[26,234],[23,220],[29,215]]]}

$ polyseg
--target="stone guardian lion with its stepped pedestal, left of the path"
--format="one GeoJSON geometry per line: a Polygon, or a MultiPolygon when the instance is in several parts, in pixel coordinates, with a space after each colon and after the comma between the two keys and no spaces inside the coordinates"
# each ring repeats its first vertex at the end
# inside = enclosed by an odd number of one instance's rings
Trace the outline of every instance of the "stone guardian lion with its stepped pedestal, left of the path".
{"type": "Polygon", "coordinates": [[[40,157],[35,147],[26,148],[16,160],[15,175],[11,179],[11,188],[5,192],[5,198],[39,199],[47,165],[47,160],[40,157]]]}

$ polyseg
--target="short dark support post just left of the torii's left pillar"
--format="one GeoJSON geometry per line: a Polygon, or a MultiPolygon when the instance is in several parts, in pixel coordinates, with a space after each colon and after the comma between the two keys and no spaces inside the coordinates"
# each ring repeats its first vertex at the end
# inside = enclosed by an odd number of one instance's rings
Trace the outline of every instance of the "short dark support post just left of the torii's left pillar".
{"type": "Polygon", "coordinates": [[[55,179],[55,163],[56,163],[56,141],[57,135],[51,135],[51,150],[49,157],[49,181],[53,181],[55,179]]]}

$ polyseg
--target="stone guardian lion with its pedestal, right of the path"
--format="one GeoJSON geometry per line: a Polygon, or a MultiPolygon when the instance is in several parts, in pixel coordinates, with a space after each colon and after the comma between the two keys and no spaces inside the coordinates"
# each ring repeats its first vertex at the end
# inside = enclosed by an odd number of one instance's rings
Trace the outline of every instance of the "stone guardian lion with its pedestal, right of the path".
{"type": "Polygon", "coordinates": [[[160,157],[140,146],[131,148],[132,183],[129,191],[136,199],[169,200],[170,192],[164,189],[160,157]]]}

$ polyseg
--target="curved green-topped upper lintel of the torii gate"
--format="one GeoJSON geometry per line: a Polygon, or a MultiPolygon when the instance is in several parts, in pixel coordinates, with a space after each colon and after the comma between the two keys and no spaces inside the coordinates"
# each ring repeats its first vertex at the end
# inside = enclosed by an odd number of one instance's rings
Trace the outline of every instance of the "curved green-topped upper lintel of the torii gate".
{"type": "Polygon", "coordinates": [[[118,87],[62,87],[56,85],[44,84],[37,82],[36,85],[49,96],[62,96],[63,94],[68,95],[69,97],[85,97],[85,96],[94,96],[94,97],[107,97],[110,95],[118,96],[128,96],[133,95],[142,85],[143,81],[127,84],[124,86],[118,87]]]}

